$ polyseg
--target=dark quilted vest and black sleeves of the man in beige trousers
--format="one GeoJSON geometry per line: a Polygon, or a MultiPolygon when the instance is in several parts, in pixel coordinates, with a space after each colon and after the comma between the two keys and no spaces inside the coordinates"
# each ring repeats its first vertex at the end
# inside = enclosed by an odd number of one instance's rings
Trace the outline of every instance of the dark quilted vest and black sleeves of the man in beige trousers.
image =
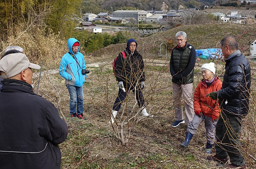
{"type": "Polygon", "coordinates": [[[196,50],[188,43],[183,48],[172,49],[170,59],[170,73],[172,82],[189,84],[194,81],[194,66],[196,64],[196,50]]]}

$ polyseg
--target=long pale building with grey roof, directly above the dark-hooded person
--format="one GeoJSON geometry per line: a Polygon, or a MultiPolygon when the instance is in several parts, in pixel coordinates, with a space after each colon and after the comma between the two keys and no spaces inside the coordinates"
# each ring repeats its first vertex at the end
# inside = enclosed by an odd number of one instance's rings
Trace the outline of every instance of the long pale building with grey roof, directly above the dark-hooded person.
{"type": "Polygon", "coordinates": [[[113,11],[113,16],[117,18],[135,18],[136,20],[146,21],[152,14],[143,10],[117,10],[113,11]]]}

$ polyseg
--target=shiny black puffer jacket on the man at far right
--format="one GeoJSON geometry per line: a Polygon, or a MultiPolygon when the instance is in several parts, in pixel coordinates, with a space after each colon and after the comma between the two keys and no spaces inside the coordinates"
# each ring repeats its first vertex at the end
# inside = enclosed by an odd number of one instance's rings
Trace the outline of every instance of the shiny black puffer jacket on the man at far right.
{"type": "Polygon", "coordinates": [[[222,89],[218,92],[222,112],[245,116],[249,112],[251,67],[245,56],[238,50],[226,60],[222,89]]]}

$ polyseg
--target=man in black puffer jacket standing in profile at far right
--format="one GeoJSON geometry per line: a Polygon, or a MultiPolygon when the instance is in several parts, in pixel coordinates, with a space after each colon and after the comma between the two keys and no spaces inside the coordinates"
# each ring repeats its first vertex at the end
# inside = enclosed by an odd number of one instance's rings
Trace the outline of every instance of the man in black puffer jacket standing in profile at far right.
{"type": "Polygon", "coordinates": [[[216,126],[216,155],[208,156],[208,160],[226,163],[229,168],[246,168],[241,155],[240,136],[242,118],[249,112],[249,96],[251,86],[251,68],[248,60],[238,50],[235,37],[224,37],[220,42],[222,53],[226,59],[222,89],[210,93],[212,99],[219,99],[222,110],[216,126]]]}

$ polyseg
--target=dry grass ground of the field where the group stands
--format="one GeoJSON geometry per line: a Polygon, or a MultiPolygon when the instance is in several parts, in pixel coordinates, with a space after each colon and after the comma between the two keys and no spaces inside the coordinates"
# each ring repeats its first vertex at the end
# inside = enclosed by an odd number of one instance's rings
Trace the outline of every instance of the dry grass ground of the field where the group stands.
{"type": "MultiPolygon", "coordinates": [[[[172,84],[168,68],[166,65],[152,66],[149,63],[152,59],[145,58],[146,69],[146,96],[147,109],[153,118],[145,118],[140,121],[131,132],[131,137],[126,146],[122,146],[119,140],[113,135],[112,127],[108,123],[107,116],[101,112],[94,103],[98,102],[106,112],[106,102],[108,108],[112,108],[114,99],[117,96],[117,84],[112,74],[112,65],[102,65],[100,68],[90,68],[91,72],[84,84],[84,114],[89,119],[81,121],[77,118],[69,118],[69,94],[64,87],[64,80],[58,75],[49,75],[51,80],[58,86],[62,96],[62,110],[66,116],[69,127],[69,135],[65,142],[60,144],[62,150],[62,168],[222,168],[215,162],[206,160],[203,153],[206,145],[205,129],[203,123],[198,127],[191,145],[187,149],[179,147],[185,139],[186,126],[172,128],[174,122],[174,111],[172,109],[172,84]],[[156,80],[156,77],[158,79],[156,80]],[[107,81],[108,79],[108,81],[107,81]],[[155,85],[156,84],[156,85],[155,85]],[[152,86],[156,86],[153,88],[152,86]],[[104,88],[108,86],[108,95],[105,95],[104,88]],[[152,91],[154,89],[154,91],[152,91]],[[168,104],[166,104],[168,103],[168,104]],[[162,108],[161,111],[159,109],[162,108]]],[[[157,62],[155,60],[155,62],[157,62]]],[[[196,63],[196,72],[200,66],[207,61],[196,63]]],[[[209,61],[208,61],[209,62],[209,61]]],[[[218,73],[222,74],[223,62],[214,60],[220,68],[218,73]],[[219,62],[219,63],[218,63],[219,62]]],[[[255,67],[254,63],[251,63],[255,67]]],[[[254,72],[252,72],[254,74],[254,72]]],[[[255,75],[253,75],[255,77],[255,75]]],[[[194,88],[199,75],[195,75],[194,88]]],[[[52,93],[54,100],[54,89],[46,78],[42,79],[39,94],[44,97],[45,93],[52,93]],[[47,91],[46,91],[47,89],[47,91]]],[[[255,78],[252,84],[255,83],[255,78]]],[[[251,102],[255,100],[254,86],[252,85],[251,102]]],[[[129,94],[128,109],[132,110],[134,98],[129,94]]],[[[47,97],[46,97],[47,98],[47,97]]],[[[53,101],[52,100],[52,101],[53,101]]],[[[121,107],[121,110],[124,107],[121,107]]],[[[137,107],[138,109],[138,107],[137,107]]],[[[129,110],[129,112],[130,112],[129,110]]],[[[119,115],[119,114],[118,114],[119,115]]],[[[119,118],[119,116],[117,117],[119,118]]],[[[246,153],[256,157],[255,152],[255,108],[252,106],[251,112],[244,119],[241,139],[242,147],[246,153]]],[[[213,149],[213,153],[215,150],[213,149]]],[[[251,157],[246,157],[246,164],[255,165],[251,157]],[[251,163],[249,163],[251,162],[251,163]],[[254,163],[254,164],[253,164],[254,163]]]]}

